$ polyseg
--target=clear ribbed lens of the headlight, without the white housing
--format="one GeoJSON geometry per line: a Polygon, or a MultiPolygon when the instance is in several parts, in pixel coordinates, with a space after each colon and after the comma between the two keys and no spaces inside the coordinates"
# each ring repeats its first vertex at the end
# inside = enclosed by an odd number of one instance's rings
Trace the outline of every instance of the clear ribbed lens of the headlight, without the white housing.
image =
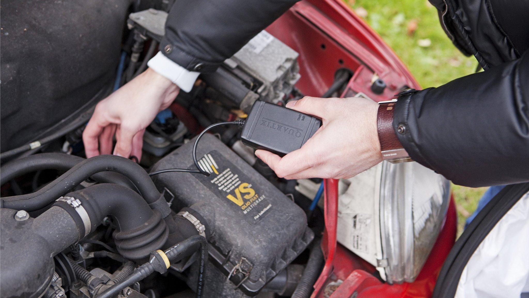
{"type": "Polygon", "coordinates": [[[382,163],[380,237],[388,283],[413,282],[439,235],[450,182],[416,162],[382,163]]]}

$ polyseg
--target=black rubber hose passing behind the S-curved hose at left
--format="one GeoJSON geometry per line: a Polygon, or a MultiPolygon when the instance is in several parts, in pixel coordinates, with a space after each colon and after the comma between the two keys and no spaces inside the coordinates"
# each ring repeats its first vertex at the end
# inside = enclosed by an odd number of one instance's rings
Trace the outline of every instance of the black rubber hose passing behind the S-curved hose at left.
{"type": "MultiPolygon", "coordinates": [[[[22,176],[23,174],[40,170],[68,171],[84,160],[83,157],[66,153],[40,153],[22,157],[12,160],[0,168],[0,172],[2,172],[0,185],[4,185],[7,181],[22,176]]],[[[97,182],[116,183],[136,190],[134,184],[120,173],[101,172],[94,174],[90,178],[97,182]]]]}

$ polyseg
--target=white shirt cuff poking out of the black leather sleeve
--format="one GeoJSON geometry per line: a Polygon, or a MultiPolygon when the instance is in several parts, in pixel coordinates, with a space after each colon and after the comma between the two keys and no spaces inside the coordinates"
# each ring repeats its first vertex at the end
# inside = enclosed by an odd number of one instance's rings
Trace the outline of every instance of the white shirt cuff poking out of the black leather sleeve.
{"type": "Polygon", "coordinates": [[[181,67],[163,55],[162,52],[158,52],[158,54],[152,57],[147,65],[155,72],[167,77],[185,92],[189,92],[193,89],[193,84],[195,84],[195,81],[200,74],[198,72],[190,72],[184,67],[181,67]]]}

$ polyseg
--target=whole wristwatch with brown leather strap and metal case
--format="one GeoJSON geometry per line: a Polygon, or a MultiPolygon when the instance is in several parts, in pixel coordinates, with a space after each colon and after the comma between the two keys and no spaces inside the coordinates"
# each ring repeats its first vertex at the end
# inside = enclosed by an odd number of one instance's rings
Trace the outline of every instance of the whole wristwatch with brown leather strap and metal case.
{"type": "Polygon", "coordinates": [[[378,104],[377,130],[382,160],[391,163],[412,161],[393,129],[393,113],[397,100],[380,101],[378,104]]]}

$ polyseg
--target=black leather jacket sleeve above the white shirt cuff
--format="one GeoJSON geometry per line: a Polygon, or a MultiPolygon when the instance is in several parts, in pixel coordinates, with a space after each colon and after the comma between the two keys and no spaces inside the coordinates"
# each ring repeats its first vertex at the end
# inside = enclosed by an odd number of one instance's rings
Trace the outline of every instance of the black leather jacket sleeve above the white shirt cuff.
{"type": "Polygon", "coordinates": [[[160,51],[189,71],[214,72],[297,1],[177,0],[160,51]]]}

